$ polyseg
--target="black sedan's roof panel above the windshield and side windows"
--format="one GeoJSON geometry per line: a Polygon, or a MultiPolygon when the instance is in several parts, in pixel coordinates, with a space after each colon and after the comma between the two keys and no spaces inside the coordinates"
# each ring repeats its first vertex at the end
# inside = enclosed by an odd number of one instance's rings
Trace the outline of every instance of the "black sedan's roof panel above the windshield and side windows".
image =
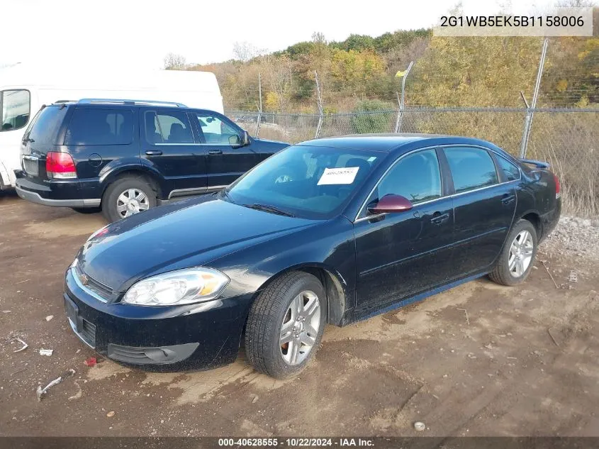
{"type": "Polygon", "coordinates": [[[461,137],[458,135],[418,134],[418,133],[381,133],[353,134],[337,137],[319,138],[298,143],[302,146],[318,146],[330,148],[347,148],[352,150],[379,151],[383,153],[403,153],[414,148],[435,145],[482,145],[486,148],[500,148],[486,140],[461,137]]]}

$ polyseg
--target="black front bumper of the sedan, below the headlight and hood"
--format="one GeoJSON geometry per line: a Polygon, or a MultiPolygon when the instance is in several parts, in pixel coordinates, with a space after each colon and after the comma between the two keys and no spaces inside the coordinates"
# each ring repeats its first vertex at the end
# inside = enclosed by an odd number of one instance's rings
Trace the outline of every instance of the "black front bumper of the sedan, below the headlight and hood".
{"type": "Polygon", "coordinates": [[[252,295],[185,306],[103,302],[67,270],[65,310],[76,335],[126,365],[204,369],[233,362],[252,295]]]}

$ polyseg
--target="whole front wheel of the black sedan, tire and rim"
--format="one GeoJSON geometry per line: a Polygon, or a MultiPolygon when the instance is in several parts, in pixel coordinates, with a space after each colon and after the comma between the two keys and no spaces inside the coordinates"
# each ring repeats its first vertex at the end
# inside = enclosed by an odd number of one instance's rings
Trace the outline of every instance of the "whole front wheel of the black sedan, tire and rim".
{"type": "Polygon", "coordinates": [[[250,309],[245,328],[248,360],[257,371],[275,379],[297,375],[318,350],[326,313],[325,289],[317,277],[289,272],[275,279],[250,309]]]}

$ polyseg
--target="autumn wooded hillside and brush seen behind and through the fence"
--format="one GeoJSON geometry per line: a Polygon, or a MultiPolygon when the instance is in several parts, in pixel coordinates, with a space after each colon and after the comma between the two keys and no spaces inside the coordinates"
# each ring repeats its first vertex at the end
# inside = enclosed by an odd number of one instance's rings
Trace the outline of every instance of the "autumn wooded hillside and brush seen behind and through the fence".
{"type": "MultiPolygon", "coordinates": [[[[598,17],[595,8],[591,38],[549,38],[537,103],[549,110],[534,114],[528,138],[527,156],[551,162],[562,181],[566,210],[579,216],[599,214],[598,17]],[[560,108],[567,111],[557,112],[560,108]]],[[[430,30],[350,35],[342,42],[315,33],[309,42],[281,52],[265,54],[246,43],[236,46],[236,59],[228,62],[185,65],[174,57],[166,65],[214,72],[225,110],[255,132],[255,116],[252,121],[235,111],[259,110],[260,77],[262,121],[268,122],[260,135],[297,142],[315,133],[398,129],[398,72],[414,61],[400,131],[471,135],[518,155],[527,116],[522,97],[532,101],[542,44],[542,38],[436,38],[430,30]],[[315,72],[322,126],[317,126],[315,72]],[[503,110],[471,109],[494,106],[503,110]]]]}

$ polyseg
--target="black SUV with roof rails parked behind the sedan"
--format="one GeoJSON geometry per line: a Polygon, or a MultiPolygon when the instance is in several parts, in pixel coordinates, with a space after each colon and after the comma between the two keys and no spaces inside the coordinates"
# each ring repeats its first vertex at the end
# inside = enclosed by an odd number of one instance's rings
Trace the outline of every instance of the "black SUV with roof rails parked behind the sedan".
{"type": "Polygon", "coordinates": [[[23,135],[16,191],[47,206],[101,209],[116,221],[176,196],[218,191],[288,145],[176,103],[57,103],[23,135]]]}

